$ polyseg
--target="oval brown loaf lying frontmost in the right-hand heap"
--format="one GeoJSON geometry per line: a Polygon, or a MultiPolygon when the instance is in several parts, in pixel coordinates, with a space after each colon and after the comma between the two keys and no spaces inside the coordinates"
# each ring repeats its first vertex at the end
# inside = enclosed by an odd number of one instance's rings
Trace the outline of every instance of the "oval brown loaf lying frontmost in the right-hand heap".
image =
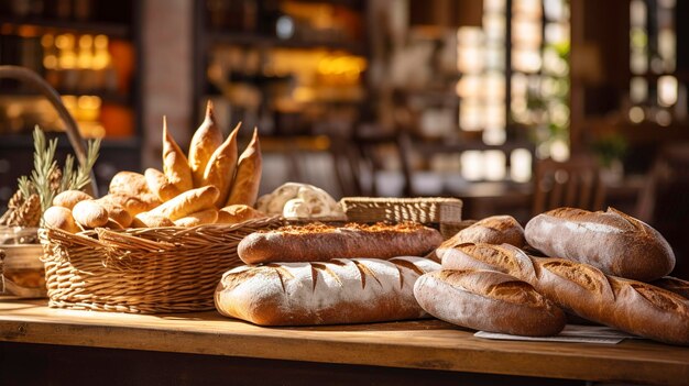
{"type": "Polygon", "coordinates": [[[514,335],[562,331],[565,312],[532,285],[494,271],[436,271],[414,285],[426,312],[452,324],[514,335]]]}

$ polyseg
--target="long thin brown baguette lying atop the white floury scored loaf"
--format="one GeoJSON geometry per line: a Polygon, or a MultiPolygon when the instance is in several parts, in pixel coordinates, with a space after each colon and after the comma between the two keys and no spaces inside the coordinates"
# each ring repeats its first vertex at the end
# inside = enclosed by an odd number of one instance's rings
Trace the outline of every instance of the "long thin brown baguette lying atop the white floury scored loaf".
{"type": "Polygon", "coordinates": [[[352,223],[338,228],[310,223],[252,233],[239,243],[237,253],[247,264],[391,258],[424,256],[441,242],[437,230],[420,224],[352,223]]]}

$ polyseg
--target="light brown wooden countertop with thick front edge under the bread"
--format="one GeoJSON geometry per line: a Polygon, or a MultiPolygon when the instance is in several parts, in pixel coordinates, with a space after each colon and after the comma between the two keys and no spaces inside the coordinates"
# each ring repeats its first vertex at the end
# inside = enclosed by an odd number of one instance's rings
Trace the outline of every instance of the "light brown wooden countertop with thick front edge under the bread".
{"type": "Polygon", "coordinates": [[[261,328],[215,311],[140,316],[0,299],[0,341],[648,384],[687,384],[689,348],[492,341],[438,320],[261,328]]]}

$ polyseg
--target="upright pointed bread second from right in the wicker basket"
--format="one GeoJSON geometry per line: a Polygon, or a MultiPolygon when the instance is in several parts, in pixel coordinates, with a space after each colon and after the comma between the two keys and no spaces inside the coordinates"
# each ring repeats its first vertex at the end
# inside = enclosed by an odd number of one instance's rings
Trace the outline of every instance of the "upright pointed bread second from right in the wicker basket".
{"type": "Polygon", "coordinates": [[[241,123],[232,130],[227,141],[221,143],[210,155],[201,179],[201,186],[214,185],[220,191],[216,200],[217,207],[222,207],[232,188],[234,169],[237,168],[237,133],[240,125],[241,123]]]}

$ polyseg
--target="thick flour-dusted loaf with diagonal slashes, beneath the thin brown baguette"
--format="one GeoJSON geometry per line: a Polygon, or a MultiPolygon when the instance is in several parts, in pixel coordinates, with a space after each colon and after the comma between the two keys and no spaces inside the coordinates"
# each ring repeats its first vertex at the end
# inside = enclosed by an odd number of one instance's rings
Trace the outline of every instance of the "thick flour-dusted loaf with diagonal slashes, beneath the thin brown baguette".
{"type": "Polygon", "coordinates": [[[261,326],[416,319],[426,312],[414,282],[438,268],[423,257],[241,266],[222,276],[215,301],[220,313],[261,326]]]}

